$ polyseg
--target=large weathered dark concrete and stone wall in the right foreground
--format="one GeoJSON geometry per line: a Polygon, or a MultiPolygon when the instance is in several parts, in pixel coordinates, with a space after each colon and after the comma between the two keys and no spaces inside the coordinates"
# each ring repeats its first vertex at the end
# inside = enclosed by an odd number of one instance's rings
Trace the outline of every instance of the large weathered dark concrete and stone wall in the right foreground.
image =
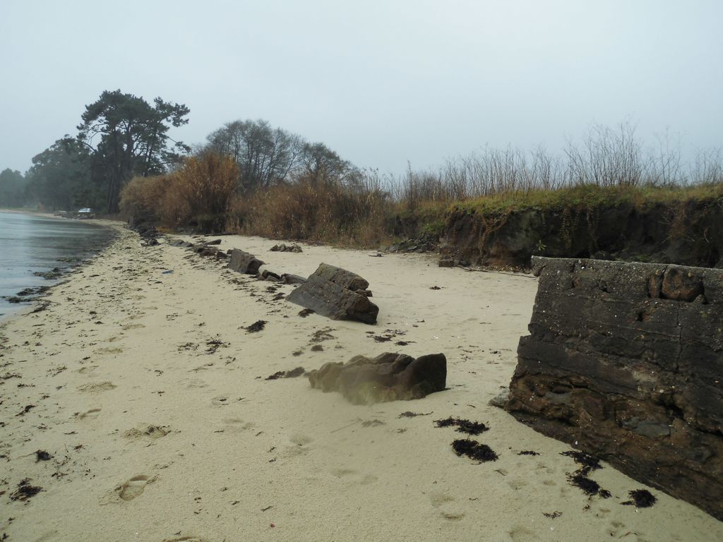
{"type": "Polygon", "coordinates": [[[534,258],[508,410],[723,520],[723,270],[534,258]]]}

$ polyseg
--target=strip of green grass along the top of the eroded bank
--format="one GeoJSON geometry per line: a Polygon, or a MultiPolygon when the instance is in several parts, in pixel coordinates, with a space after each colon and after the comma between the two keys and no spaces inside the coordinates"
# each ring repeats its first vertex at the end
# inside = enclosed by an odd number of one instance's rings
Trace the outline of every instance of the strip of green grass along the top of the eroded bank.
{"type": "Polygon", "coordinates": [[[494,194],[487,197],[453,202],[448,213],[463,212],[470,215],[495,215],[501,212],[529,209],[582,210],[591,207],[635,205],[638,208],[657,204],[681,202],[716,202],[723,198],[723,184],[697,184],[692,186],[574,186],[557,190],[531,190],[494,194]]]}

